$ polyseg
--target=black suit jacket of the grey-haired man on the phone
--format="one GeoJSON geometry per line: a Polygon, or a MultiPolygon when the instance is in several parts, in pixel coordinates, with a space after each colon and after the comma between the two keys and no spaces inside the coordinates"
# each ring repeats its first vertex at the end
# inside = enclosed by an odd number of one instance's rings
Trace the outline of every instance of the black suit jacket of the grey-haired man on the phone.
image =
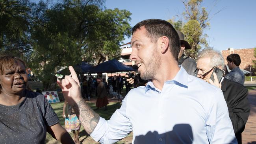
{"type": "Polygon", "coordinates": [[[226,78],[221,82],[221,90],[228,106],[237,142],[242,144],[242,132],[250,113],[248,90],[243,85],[226,78]]]}

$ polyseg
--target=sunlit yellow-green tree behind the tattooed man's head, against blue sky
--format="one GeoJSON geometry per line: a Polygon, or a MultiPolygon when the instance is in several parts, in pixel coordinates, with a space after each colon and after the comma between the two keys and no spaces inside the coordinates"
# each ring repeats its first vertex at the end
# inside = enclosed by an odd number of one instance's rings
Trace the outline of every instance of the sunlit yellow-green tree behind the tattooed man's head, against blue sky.
{"type": "Polygon", "coordinates": [[[210,26],[208,12],[205,7],[200,7],[203,0],[181,0],[185,6],[182,13],[185,21],[167,20],[174,28],[184,33],[185,40],[189,42],[191,49],[185,53],[192,58],[197,56],[202,47],[207,47],[206,38],[208,35],[203,34],[203,30],[210,26]]]}

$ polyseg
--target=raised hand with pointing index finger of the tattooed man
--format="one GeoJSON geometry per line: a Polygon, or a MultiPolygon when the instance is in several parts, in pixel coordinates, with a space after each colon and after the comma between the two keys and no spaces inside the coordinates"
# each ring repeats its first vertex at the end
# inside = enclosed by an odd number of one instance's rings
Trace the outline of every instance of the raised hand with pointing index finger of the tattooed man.
{"type": "Polygon", "coordinates": [[[62,89],[65,100],[70,105],[74,105],[82,98],[80,82],[77,78],[76,72],[72,66],[69,66],[71,76],[65,76],[62,81],[57,80],[57,84],[62,89]]]}

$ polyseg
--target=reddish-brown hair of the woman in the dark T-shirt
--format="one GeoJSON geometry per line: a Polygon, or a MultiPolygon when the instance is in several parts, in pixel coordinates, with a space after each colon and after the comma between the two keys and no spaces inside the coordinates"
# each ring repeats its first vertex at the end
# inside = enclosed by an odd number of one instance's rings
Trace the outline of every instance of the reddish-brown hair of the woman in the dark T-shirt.
{"type": "MultiPolygon", "coordinates": [[[[26,63],[19,57],[14,57],[10,54],[0,55],[0,75],[4,74],[5,69],[16,70],[18,62],[22,63],[26,67],[26,63]]],[[[1,91],[2,87],[0,84],[0,93],[1,91]]]]}

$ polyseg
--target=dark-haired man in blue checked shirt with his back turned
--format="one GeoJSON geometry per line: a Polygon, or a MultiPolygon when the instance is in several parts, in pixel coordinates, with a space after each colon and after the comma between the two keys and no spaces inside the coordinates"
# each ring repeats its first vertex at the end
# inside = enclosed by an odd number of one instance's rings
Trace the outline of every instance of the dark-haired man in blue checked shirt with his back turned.
{"type": "Polygon", "coordinates": [[[231,81],[240,83],[241,85],[245,84],[245,74],[240,70],[239,65],[241,64],[241,59],[238,54],[230,54],[227,56],[228,68],[231,70],[226,74],[225,78],[231,81]]]}

